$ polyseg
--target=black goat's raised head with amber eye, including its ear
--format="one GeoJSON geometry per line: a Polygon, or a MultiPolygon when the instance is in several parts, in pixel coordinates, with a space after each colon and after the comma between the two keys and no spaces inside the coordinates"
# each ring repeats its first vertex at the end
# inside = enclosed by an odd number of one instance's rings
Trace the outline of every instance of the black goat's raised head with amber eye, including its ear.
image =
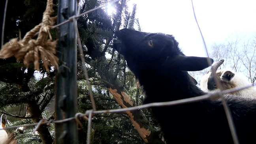
{"type": "Polygon", "coordinates": [[[136,74],[141,67],[166,70],[199,71],[213,63],[211,58],[185,56],[172,35],[146,33],[122,29],[115,35],[114,48],[124,55],[130,69],[136,74]]]}

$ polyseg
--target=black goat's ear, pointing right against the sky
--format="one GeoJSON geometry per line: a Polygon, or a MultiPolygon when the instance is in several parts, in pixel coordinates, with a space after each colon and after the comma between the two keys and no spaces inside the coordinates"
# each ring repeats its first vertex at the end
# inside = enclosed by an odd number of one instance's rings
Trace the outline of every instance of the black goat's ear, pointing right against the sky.
{"type": "Polygon", "coordinates": [[[213,64],[213,59],[178,55],[174,60],[171,60],[170,63],[172,67],[181,71],[201,71],[213,64]]]}

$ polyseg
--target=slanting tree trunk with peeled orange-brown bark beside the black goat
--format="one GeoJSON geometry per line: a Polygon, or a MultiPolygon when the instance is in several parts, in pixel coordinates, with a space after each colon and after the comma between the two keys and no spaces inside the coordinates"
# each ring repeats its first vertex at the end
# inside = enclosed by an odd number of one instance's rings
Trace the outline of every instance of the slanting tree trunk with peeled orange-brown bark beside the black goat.
{"type": "MultiPolygon", "coordinates": [[[[84,23],[85,30],[87,29],[86,23],[84,23]]],[[[100,49],[96,43],[94,43],[94,40],[91,37],[87,38],[87,42],[85,43],[88,54],[92,58],[92,60],[95,60],[96,58],[100,61],[104,62],[105,64],[108,64],[107,59],[105,57],[105,53],[103,53],[102,49],[100,49]]],[[[122,87],[122,84],[117,79],[117,76],[111,72],[108,71],[108,66],[105,67],[105,71],[107,73],[104,73],[102,77],[105,77],[107,79],[111,79],[111,86],[109,84],[106,84],[109,92],[115,97],[117,102],[119,103],[122,108],[128,108],[128,107],[134,107],[134,103],[131,101],[130,96],[125,92],[124,88],[122,87]],[[115,76],[114,76],[115,75],[115,76]]],[[[141,110],[136,111],[126,111],[126,114],[130,118],[131,122],[133,123],[134,127],[137,129],[139,135],[141,138],[149,144],[164,144],[164,142],[161,140],[161,138],[154,132],[152,126],[147,121],[147,118],[143,116],[143,113],[141,110]]]]}

